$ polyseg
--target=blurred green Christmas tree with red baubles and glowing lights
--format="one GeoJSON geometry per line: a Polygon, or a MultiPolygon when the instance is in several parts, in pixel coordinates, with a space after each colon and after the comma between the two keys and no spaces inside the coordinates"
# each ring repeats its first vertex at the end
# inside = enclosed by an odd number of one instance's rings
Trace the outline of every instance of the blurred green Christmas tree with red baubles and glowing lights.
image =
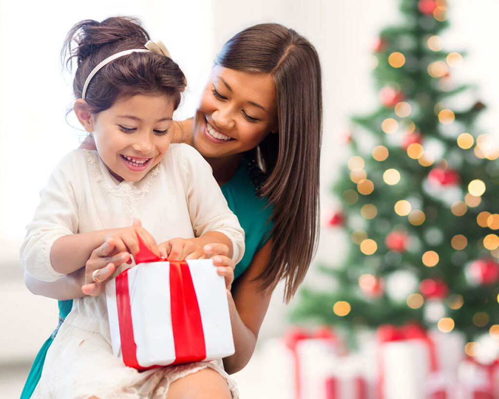
{"type": "Polygon", "coordinates": [[[439,35],[447,8],[402,0],[403,25],[379,35],[380,105],[353,118],[333,188],[343,207],[330,225],[348,233],[348,253],[319,265],[331,289],[303,288],[294,320],[499,335],[499,148],[475,126],[484,104],[453,77],[463,55],[439,35]]]}

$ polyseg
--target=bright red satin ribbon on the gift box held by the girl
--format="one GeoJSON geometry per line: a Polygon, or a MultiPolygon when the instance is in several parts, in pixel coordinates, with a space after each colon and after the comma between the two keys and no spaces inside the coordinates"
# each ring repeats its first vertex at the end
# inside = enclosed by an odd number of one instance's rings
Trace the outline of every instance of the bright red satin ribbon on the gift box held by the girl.
{"type": "MultiPolygon", "coordinates": [[[[138,241],[139,251],[134,256],[137,264],[166,260],[151,252],[140,237],[138,237],[138,241]]],[[[142,367],[137,361],[137,345],[133,335],[128,290],[128,270],[116,276],[116,303],[123,362],[125,365],[138,370],[159,367],[142,367]]],[[[191,272],[185,260],[170,262],[170,304],[175,344],[175,361],[172,364],[204,360],[206,358],[206,345],[203,323],[191,272]]]]}

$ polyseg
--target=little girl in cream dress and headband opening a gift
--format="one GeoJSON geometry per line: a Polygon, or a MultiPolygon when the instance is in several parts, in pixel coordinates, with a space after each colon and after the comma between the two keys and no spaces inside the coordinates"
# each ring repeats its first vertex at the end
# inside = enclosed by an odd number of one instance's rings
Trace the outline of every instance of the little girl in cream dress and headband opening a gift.
{"type": "MultiPolygon", "coordinates": [[[[120,254],[103,268],[115,274],[131,263],[138,237],[170,259],[205,256],[208,243],[226,245],[234,262],[243,256],[244,232],[210,167],[192,147],[170,146],[185,77],[162,43],[148,39],[128,18],[84,20],[66,38],[68,49],[77,43],[69,58],[78,64],[74,112],[96,151],[69,153],[41,194],[21,247],[23,266],[39,280],[80,269],[99,247],[120,254]]],[[[218,269],[228,287],[231,266],[218,269]]],[[[97,272],[87,282],[101,282],[97,272]]],[[[141,373],[124,366],[112,355],[104,295],[92,283],[84,289],[96,296],[73,301],[33,397],[171,398],[171,382],[192,373],[206,376],[217,398],[237,397],[221,361],[141,373]]]]}

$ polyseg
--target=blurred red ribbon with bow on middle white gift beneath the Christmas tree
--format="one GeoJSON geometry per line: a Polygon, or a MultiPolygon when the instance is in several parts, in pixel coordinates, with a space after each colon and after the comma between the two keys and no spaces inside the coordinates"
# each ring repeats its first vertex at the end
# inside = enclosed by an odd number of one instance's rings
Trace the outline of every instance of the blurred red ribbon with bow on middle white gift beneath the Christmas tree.
{"type": "MultiPolygon", "coordinates": [[[[393,341],[406,341],[406,340],[421,340],[427,347],[430,356],[430,370],[436,371],[438,369],[437,353],[435,351],[435,344],[428,336],[426,330],[416,323],[409,323],[402,327],[397,327],[389,324],[381,325],[376,332],[379,344],[393,341]]],[[[378,378],[378,393],[379,398],[383,399],[383,356],[381,350],[378,351],[378,364],[379,364],[379,378],[378,378]]]]}

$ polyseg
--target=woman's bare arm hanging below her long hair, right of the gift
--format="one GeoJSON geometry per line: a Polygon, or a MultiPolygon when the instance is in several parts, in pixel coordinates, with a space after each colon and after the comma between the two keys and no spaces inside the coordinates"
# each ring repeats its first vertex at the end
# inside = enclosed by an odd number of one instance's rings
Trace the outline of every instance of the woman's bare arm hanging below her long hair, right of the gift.
{"type": "Polygon", "coordinates": [[[273,291],[273,287],[260,290],[261,281],[254,278],[268,264],[271,249],[272,238],[254,254],[248,269],[233,285],[229,309],[236,352],[224,359],[224,367],[229,374],[243,369],[253,354],[273,291]]]}

